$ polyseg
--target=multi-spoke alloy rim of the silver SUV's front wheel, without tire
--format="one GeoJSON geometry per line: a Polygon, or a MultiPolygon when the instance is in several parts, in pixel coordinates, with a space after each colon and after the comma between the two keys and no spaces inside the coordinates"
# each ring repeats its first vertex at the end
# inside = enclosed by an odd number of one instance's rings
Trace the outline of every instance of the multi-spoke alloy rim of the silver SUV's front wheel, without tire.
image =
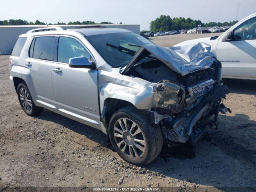
{"type": "Polygon", "coordinates": [[[114,124],[116,145],[126,156],[140,158],[146,149],[145,137],[140,127],[128,118],[120,118],[114,124]]]}

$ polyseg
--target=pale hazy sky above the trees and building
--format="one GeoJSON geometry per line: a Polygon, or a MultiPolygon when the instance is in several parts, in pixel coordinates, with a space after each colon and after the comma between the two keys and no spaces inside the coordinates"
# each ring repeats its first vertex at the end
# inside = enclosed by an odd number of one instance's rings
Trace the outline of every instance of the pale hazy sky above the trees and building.
{"type": "Polygon", "coordinates": [[[92,20],[140,24],[148,30],[161,14],[224,22],[256,13],[256,0],[0,0],[0,20],[55,23],[92,20]]]}

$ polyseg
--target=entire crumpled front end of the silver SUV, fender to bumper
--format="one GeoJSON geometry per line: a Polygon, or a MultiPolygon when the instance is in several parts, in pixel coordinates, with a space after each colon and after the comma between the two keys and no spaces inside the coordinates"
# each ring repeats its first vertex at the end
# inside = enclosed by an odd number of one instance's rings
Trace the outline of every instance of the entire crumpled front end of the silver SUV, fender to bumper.
{"type": "Polygon", "coordinates": [[[230,111],[222,103],[229,90],[221,64],[207,44],[145,45],[120,69],[122,76],[116,72],[99,72],[101,110],[107,98],[125,100],[148,113],[173,142],[196,142],[209,124],[216,126],[219,111],[230,111]]]}

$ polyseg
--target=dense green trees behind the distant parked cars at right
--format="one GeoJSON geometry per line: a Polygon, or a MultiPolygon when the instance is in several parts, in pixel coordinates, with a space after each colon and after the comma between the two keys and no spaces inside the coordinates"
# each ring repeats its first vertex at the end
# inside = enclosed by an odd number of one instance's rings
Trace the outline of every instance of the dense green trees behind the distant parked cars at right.
{"type": "Polygon", "coordinates": [[[161,15],[150,22],[150,31],[171,31],[171,30],[182,30],[182,29],[192,29],[201,25],[202,27],[213,27],[213,26],[232,26],[238,21],[231,22],[209,22],[202,23],[201,20],[193,20],[191,18],[177,17],[171,18],[170,16],[161,15]]]}

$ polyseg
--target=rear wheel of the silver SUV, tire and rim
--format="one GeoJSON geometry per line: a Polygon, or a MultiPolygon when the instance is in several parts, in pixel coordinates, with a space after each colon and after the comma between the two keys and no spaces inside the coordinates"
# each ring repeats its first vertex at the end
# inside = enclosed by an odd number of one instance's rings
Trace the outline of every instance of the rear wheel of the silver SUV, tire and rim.
{"type": "Polygon", "coordinates": [[[23,111],[28,116],[36,116],[43,111],[44,108],[37,107],[34,104],[32,98],[31,98],[31,94],[30,94],[28,87],[26,86],[25,83],[20,83],[18,85],[17,93],[18,93],[18,99],[20,102],[20,106],[22,107],[23,111]]]}

